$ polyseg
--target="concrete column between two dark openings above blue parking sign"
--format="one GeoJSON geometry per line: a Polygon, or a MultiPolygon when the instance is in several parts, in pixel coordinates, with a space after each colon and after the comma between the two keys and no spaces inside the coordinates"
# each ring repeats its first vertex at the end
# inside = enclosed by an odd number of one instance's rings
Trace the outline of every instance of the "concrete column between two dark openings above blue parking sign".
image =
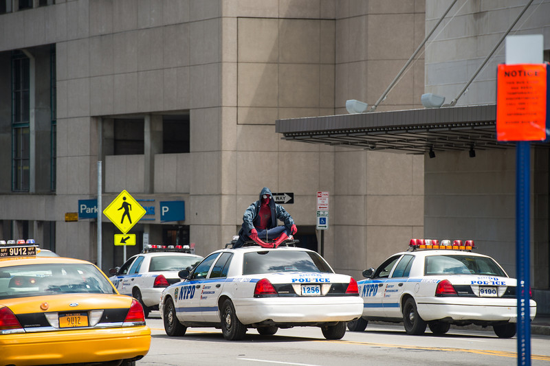
{"type": "Polygon", "coordinates": [[[155,155],[162,154],[162,115],[145,115],[144,193],[155,192],[155,155]]]}

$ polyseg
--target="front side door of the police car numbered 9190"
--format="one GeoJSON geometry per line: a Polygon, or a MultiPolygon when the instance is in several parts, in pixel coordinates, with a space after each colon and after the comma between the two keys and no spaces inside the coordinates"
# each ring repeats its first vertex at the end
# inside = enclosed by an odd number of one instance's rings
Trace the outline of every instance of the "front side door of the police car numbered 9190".
{"type": "Polygon", "coordinates": [[[401,255],[394,255],[382,263],[375,271],[372,279],[367,279],[360,288],[364,301],[363,315],[365,317],[384,317],[384,295],[388,286],[388,277],[401,255]]]}

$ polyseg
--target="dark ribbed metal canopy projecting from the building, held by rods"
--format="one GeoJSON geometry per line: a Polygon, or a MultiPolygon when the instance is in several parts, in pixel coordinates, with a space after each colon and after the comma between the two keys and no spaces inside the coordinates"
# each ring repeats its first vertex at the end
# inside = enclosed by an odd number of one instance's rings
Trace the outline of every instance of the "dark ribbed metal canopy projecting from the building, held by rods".
{"type": "Polygon", "coordinates": [[[496,141],[496,104],[279,119],[275,126],[289,141],[406,154],[515,146],[496,141]]]}

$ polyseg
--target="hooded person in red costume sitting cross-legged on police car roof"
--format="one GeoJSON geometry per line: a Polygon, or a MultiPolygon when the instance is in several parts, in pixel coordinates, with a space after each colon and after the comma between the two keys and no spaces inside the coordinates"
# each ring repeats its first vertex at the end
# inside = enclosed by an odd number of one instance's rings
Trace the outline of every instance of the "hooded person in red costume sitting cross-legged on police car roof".
{"type": "Polygon", "coordinates": [[[294,235],[298,231],[292,216],[281,205],[273,200],[271,190],[263,187],[259,200],[253,202],[243,215],[243,226],[239,231],[239,240],[234,244],[234,248],[242,247],[247,240],[254,240],[261,247],[276,248],[289,235],[294,235]],[[284,225],[277,226],[277,220],[281,220],[284,225]],[[266,243],[265,241],[274,240],[276,242],[266,243]]]}

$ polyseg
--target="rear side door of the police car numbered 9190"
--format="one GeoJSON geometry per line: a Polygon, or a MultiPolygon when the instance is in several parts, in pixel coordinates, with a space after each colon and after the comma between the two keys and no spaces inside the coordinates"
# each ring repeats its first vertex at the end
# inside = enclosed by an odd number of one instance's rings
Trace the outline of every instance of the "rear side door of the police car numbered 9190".
{"type": "Polygon", "coordinates": [[[414,255],[403,255],[395,265],[390,277],[388,277],[384,287],[384,297],[382,298],[386,317],[401,318],[403,316],[399,304],[401,304],[403,291],[408,290],[411,285],[414,287],[414,283],[407,282],[410,266],[412,266],[414,259],[414,255]]]}

